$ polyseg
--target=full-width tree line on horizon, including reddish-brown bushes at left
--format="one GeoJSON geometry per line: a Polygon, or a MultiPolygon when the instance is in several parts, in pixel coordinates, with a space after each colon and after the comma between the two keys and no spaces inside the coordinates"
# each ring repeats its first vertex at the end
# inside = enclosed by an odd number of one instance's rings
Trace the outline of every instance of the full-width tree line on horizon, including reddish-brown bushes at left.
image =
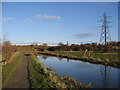
{"type": "Polygon", "coordinates": [[[47,43],[43,43],[42,45],[37,45],[37,43],[33,43],[31,45],[12,45],[10,41],[0,42],[0,55],[2,55],[3,60],[9,60],[13,53],[22,50],[29,51],[95,51],[95,52],[111,52],[111,51],[119,51],[120,50],[120,42],[111,42],[106,45],[97,44],[97,43],[89,43],[89,44],[63,44],[62,42],[58,43],[57,46],[48,46],[47,43]]]}

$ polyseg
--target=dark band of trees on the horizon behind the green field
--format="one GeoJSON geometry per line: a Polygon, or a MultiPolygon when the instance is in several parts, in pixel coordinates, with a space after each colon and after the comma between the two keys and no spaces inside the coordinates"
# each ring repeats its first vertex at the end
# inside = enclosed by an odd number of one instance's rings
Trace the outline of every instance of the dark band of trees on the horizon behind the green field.
{"type": "Polygon", "coordinates": [[[63,44],[58,43],[57,46],[48,46],[46,43],[43,45],[39,45],[35,47],[38,51],[96,51],[96,52],[110,52],[110,51],[119,51],[120,50],[120,42],[111,42],[106,45],[97,44],[97,43],[89,43],[89,44],[63,44]]]}

